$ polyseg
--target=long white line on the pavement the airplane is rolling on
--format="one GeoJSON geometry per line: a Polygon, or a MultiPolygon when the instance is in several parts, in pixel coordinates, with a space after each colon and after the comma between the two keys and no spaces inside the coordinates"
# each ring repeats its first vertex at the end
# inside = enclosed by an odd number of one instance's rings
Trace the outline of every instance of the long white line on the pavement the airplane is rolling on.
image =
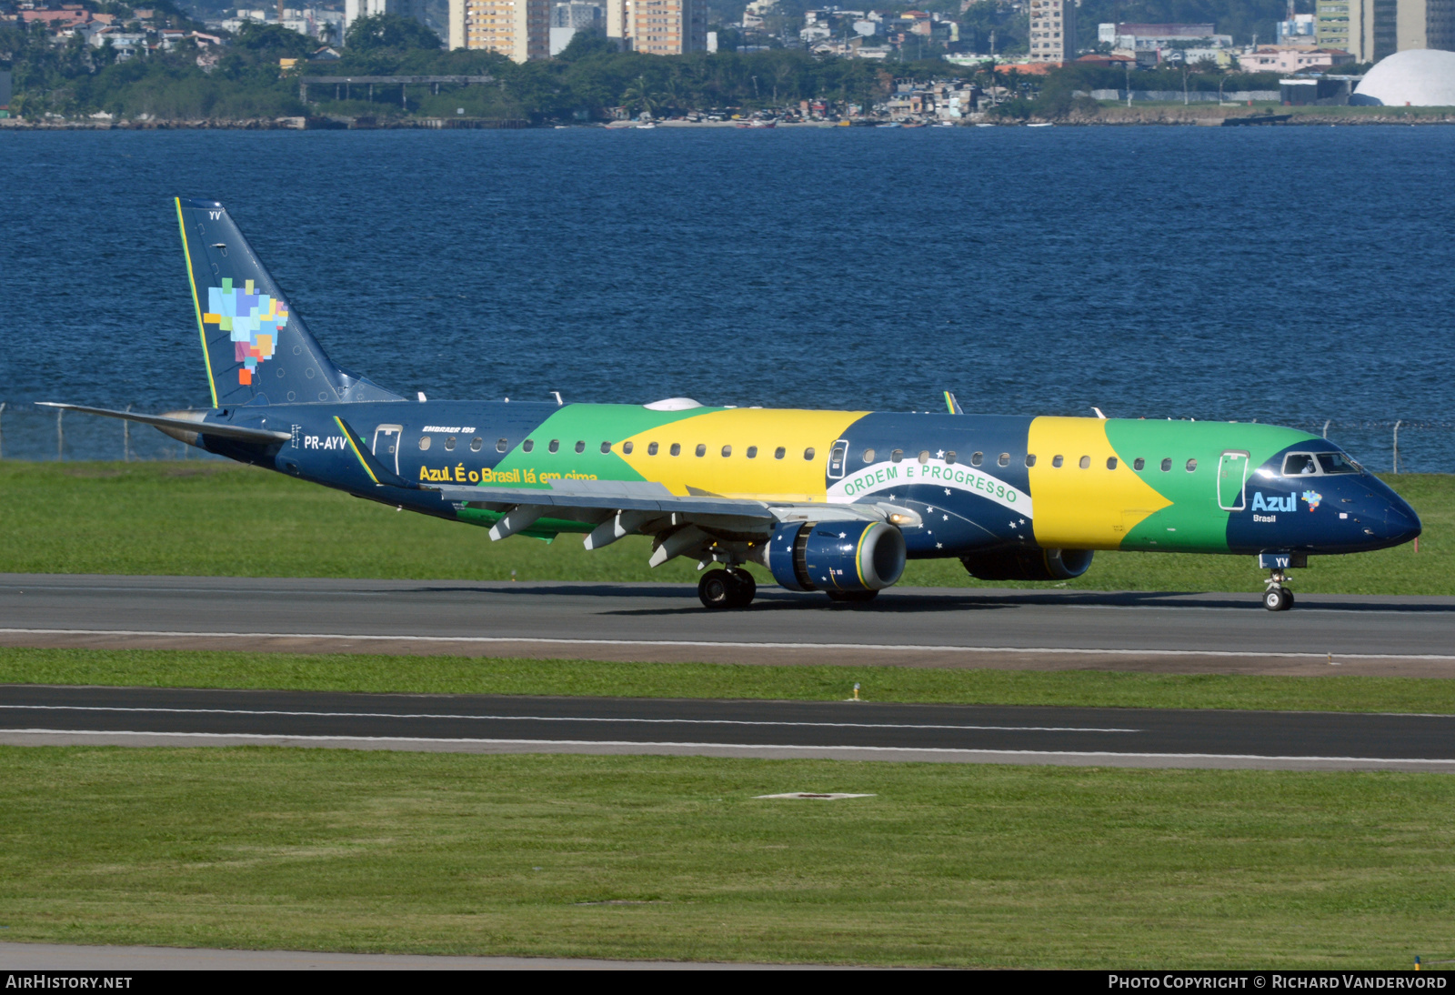
{"type": "MultiPolygon", "coordinates": [[[[821,649],[920,653],[1045,653],[1090,656],[1216,656],[1323,660],[1328,652],[1293,653],[1288,650],[1186,650],[1186,649],[1072,649],[1067,646],[931,646],[921,643],[729,643],[684,639],[543,639],[538,636],[359,636],[340,633],[212,633],[147,628],[0,628],[0,636],[147,636],[163,639],[342,639],[375,643],[531,643],[541,646],[685,646],[698,649],[821,649]]],[[[1449,660],[1449,653],[1343,653],[1342,660],[1449,660]]]]}

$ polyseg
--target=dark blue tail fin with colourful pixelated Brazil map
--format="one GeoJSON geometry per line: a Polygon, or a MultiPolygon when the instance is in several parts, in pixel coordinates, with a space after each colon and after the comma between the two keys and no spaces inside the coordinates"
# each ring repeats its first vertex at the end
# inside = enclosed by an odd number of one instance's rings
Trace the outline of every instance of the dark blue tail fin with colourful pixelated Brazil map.
{"type": "Polygon", "coordinates": [[[217,201],[176,198],[212,407],[403,400],[323,352],[217,201]]]}

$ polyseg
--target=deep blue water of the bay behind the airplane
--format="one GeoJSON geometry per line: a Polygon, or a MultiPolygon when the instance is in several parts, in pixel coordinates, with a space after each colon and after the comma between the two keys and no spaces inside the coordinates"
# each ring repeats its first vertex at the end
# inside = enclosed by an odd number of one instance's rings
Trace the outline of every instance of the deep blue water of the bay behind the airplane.
{"type": "MultiPolygon", "coordinates": [[[[1257,419],[1455,471],[1452,128],[0,132],[32,400],[204,406],[175,193],[431,399],[1257,419]]],[[[119,425],[68,416],[67,458],[119,425]]],[[[134,429],[141,455],[176,444],[134,429]]],[[[170,449],[167,448],[170,447],[170,449]]]]}

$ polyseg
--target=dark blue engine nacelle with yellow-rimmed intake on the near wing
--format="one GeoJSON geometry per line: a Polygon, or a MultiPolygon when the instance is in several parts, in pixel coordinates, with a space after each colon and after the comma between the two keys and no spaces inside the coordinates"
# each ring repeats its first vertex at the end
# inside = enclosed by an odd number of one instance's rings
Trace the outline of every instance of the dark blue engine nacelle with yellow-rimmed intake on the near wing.
{"type": "Polygon", "coordinates": [[[882,591],[904,576],[905,537],[885,522],[780,525],[767,567],[789,591],[882,591]]]}

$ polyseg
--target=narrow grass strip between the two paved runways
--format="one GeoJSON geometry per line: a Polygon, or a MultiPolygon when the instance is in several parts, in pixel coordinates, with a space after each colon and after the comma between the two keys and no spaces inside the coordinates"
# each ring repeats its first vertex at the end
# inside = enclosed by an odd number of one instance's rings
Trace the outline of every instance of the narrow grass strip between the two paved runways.
{"type": "Polygon", "coordinates": [[[0,649],[0,685],[842,701],[856,682],[867,701],[1455,713],[1455,681],[1420,678],[0,649]]]}

